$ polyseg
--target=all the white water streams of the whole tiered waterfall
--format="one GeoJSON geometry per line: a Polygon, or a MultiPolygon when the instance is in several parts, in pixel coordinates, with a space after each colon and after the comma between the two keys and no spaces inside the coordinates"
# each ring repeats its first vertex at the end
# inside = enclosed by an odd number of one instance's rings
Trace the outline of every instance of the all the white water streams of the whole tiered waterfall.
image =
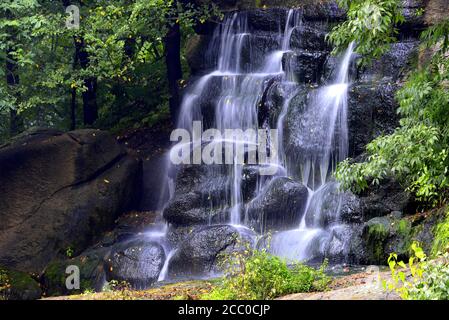
{"type": "MultiPolygon", "coordinates": [[[[279,168],[275,177],[259,177],[256,197],[263,196],[267,187],[276,177],[298,177],[308,189],[307,203],[300,223],[292,225],[290,230],[274,232],[270,251],[276,255],[299,261],[310,261],[323,257],[332,233],[340,228],[339,208],[341,197],[338,184],[332,180],[335,165],[345,159],[348,153],[347,128],[347,92],[348,69],[351,63],[353,45],[351,44],[341,58],[338,70],[334,71],[331,84],[308,93],[303,119],[299,124],[301,154],[291,157],[284,146],[285,122],[292,99],[301,85],[290,72],[289,59],[291,37],[295,29],[302,25],[300,10],[288,11],[284,26],[280,26],[275,41],[278,49],[265,57],[244,57],[243,48],[251,45],[251,30],[245,12],[227,15],[218,26],[210,44],[210,57],[216,61],[216,70],[202,76],[185,92],[178,128],[192,130],[193,121],[202,121],[203,127],[224,129],[258,129],[258,107],[272,81],[279,84],[282,91],[281,110],[275,121],[278,129],[279,168]],[[218,49],[218,50],[217,50],[218,49]],[[211,88],[215,88],[214,97],[210,97],[211,88]],[[218,89],[217,89],[218,88],[218,89]],[[208,100],[208,113],[205,114],[204,101],[208,100]],[[213,112],[211,112],[211,110],[213,112]],[[323,220],[327,222],[324,224],[323,220]]],[[[250,50],[251,51],[251,50],[250,50]]],[[[265,124],[266,125],[266,124],[265,124]]],[[[249,140],[238,143],[249,144],[249,140]]],[[[170,165],[167,164],[168,171],[170,165]]],[[[230,208],[228,223],[239,228],[248,228],[246,210],[251,201],[242,196],[242,178],[244,165],[226,166],[229,182],[229,197],[222,199],[223,207],[230,208]]],[[[211,177],[216,174],[210,168],[211,177]]],[[[172,175],[173,176],[173,175],[172,175]]],[[[173,184],[167,179],[170,197],[173,196],[173,184]]],[[[260,217],[262,220],[263,217],[260,217]]],[[[161,221],[157,231],[148,233],[156,239],[166,228],[161,221]]],[[[259,235],[263,236],[263,235],[259,235]]],[[[167,248],[166,262],[159,281],[166,278],[170,258],[176,249],[167,248]]]]}

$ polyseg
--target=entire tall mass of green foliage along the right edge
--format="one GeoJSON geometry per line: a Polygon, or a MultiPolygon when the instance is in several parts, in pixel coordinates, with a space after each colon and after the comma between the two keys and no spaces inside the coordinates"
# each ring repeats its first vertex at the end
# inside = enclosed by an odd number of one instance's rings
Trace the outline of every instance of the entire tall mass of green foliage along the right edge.
{"type": "Polygon", "coordinates": [[[449,189],[449,58],[444,43],[449,23],[443,22],[423,33],[432,47],[428,64],[414,71],[397,92],[400,127],[368,144],[367,160],[346,160],[337,169],[342,187],[354,192],[395,177],[418,200],[436,205],[447,199],[449,189]],[[442,30],[445,30],[443,32],[442,30]]]}

